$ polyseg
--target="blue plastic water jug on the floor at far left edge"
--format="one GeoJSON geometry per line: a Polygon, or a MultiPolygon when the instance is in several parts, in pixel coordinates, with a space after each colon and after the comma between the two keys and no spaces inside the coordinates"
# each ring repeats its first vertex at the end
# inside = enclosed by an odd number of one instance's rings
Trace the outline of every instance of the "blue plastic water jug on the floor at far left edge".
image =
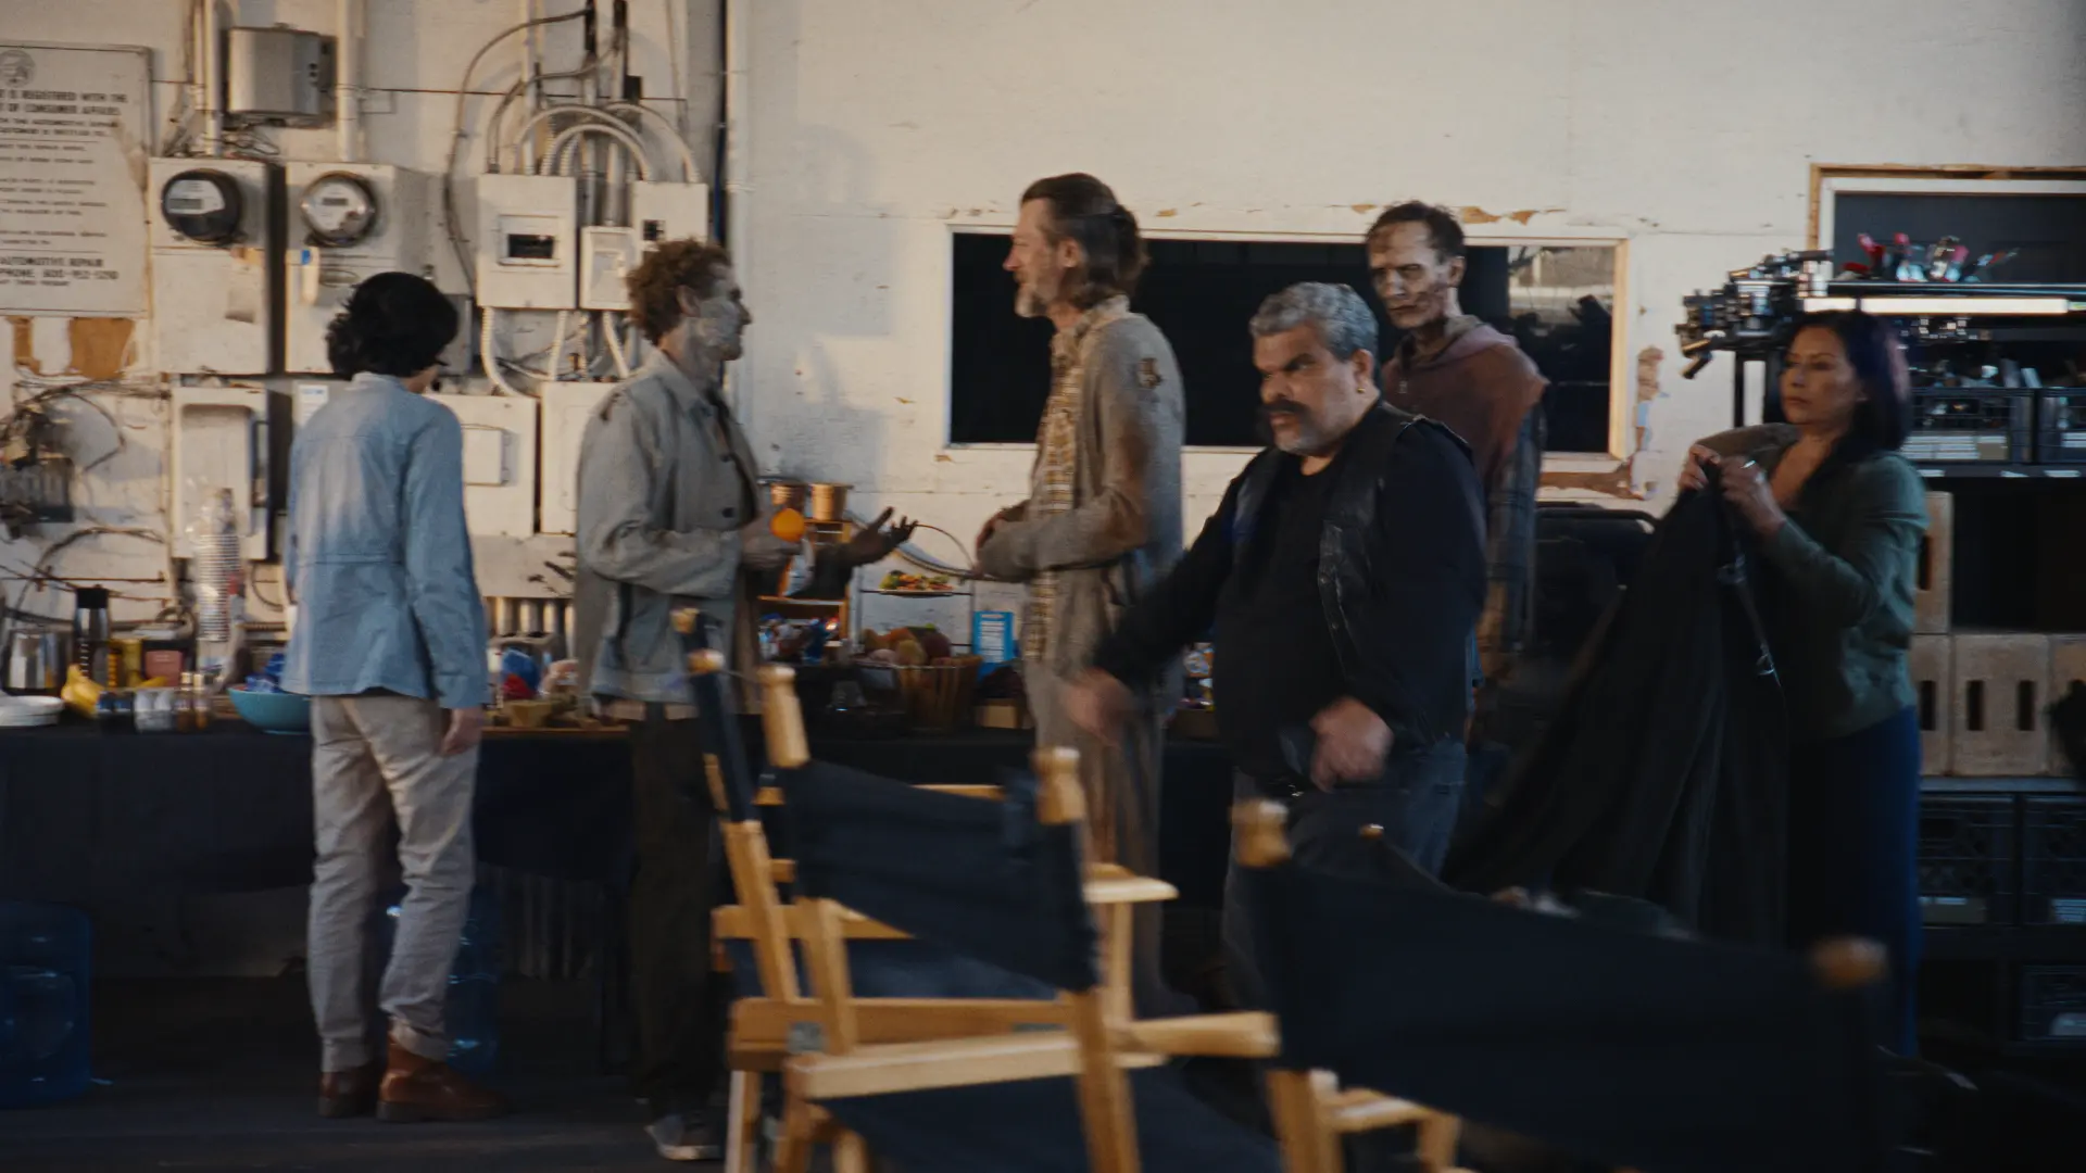
{"type": "Polygon", "coordinates": [[[90,950],[86,912],[0,902],[0,1108],[88,1090],[90,950]]]}

